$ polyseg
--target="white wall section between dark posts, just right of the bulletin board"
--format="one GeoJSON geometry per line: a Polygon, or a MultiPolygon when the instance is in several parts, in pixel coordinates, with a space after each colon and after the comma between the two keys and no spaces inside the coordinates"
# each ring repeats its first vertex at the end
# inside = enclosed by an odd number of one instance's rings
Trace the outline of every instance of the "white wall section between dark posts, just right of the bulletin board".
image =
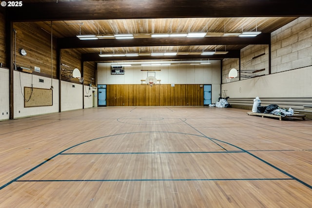
{"type": "Polygon", "coordinates": [[[82,84],[61,81],[61,111],[76,109],[82,109],[82,84]]]}

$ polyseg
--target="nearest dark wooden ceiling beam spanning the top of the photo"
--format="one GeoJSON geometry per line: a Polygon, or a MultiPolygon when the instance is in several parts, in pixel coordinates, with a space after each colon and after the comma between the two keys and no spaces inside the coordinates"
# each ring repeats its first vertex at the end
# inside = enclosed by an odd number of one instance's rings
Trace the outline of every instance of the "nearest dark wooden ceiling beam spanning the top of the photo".
{"type": "Polygon", "coordinates": [[[310,0],[99,0],[22,2],[12,21],[312,16],[310,0]]]}

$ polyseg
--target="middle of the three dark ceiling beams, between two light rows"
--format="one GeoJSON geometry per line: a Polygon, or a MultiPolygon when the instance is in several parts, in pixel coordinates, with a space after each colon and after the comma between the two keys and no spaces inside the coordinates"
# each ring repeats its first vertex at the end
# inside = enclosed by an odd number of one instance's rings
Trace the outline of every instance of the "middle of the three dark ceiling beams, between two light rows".
{"type": "Polygon", "coordinates": [[[143,46],[176,46],[176,45],[265,45],[270,44],[270,34],[257,37],[209,37],[209,38],[135,38],[135,39],[98,39],[80,40],[59,38],[60,49],[69,48],[104,48],[104,47],[143,47],[143,46]]]}

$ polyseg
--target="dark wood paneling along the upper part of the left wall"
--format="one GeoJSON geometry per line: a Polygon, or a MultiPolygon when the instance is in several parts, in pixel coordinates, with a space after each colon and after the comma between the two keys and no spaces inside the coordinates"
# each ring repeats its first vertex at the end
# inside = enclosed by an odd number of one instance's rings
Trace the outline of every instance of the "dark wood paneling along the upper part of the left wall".
{"type": "MultiPolygon", "coordinates": [[[[1,14],[0,14],[1,15],[1,14]]],[[[1,16],[0,16],[1,18],[1,16]]],[[[0,30],[5,29],[4,23],[0,23],[0,30]]],[[[22,66],[29,68],[33,71],[33,74],[39,76],[51,77],[51,35],[50,31],[45,31],[38,27],[37,24],[33,22],[14,22],[14,29],[16,29],[16,64],[17,66],[22,66]],[[27,51],[27,56],[23,57],[19,54],[19,49],[24,48],[27,51]],[[34,67],[40,67],[40,73],[34,72],[34,67]]],[[[2,42],[0,37],[0,43],[2,42]]],[[[0,45],[0,62],[2,60],[1,53],[5,50],[4,46],[5,40],[3,40],[3,45],[0,45]],[[3,48],[2,48],[3,47],[3,48]]],[[[57,74],[57,39],[53,38],[53,47],[52,47],[52,75],[53,78],[59,78],[57,74]]],[[[14,50],[14,49],[13,49],[14,50]]],[[[73,70],[78,68],[81,71],[81,53],[77,49],[63,49],[60,53],[61,61],[60,64],[66,64],[68,67],[60,66],[60,68],[73,70]]],[[[4,55],[3,55],[4,57],[4,55]]],[[[5,58],[3,59],[3,61],[5,58]]],[[[85,62],[84,63],[84,84],[93,86],[96,85],[95,79],[91,81],[91,78],[96,78],[96,63],[94,62],[85,62]]],[[[61,75],[70,75],[64,71],[61,72],[61,75]]],[[[78,79],[68,78],[61,76],[60,79],[64,81],[79,83],[78,79]]]]}

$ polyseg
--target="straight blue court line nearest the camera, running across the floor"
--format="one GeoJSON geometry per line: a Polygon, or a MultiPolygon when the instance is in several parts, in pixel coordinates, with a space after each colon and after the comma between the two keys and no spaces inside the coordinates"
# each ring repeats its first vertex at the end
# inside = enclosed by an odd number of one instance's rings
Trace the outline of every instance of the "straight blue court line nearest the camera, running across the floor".
{"type": "Polygon", "coordinates": [[[212,179],[95,179],[95,180],[17,180],[16,182],[108,182],[108,181],[280,181],[292,178],[212,178],[212,179]]]}

